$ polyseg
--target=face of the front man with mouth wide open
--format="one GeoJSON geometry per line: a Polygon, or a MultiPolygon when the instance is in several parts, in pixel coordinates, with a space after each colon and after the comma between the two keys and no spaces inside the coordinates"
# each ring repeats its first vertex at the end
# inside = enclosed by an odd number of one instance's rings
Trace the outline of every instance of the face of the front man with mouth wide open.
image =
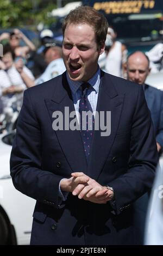
{"type": "Polygon", "coordinates": [[[73,81],[88,81],[97,71],[98,57],[104,51],[97,46],[95,32],[87,24],[69,25],[62,46],[64,63],[73,81]]]}

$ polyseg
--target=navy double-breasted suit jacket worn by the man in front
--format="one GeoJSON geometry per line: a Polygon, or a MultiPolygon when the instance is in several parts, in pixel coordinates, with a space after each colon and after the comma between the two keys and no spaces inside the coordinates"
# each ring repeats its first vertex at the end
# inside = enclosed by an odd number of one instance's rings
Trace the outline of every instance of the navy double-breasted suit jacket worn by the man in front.
{"type": "Polygon", "coordinates": [[[65,73],[24,92],[10,166],[17,190],[37,200],[31,244],[134,244],[132,205],[151,188],[158,160],[143,88],[102,72],[97,111],[111,111],[111,135],[93,133],[88,165],[80,132],[52,129],[65,106],[74,111],[65,73]],[[59,205],[60,180],[80,171],[114,188],[116,214],[72,193],[59,205]]]}

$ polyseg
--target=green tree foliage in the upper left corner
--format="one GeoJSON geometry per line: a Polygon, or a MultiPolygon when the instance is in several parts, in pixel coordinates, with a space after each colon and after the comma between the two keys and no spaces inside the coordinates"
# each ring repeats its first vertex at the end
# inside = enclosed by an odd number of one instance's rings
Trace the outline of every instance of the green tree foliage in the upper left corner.
{"type": "Polygon", "coordinates": [[[51,24],[54,18],[48,17],[48,13],[56,8],[56,4],[47,1],[46,7],[41,9],[41,3],[41,0],[0,1],[0,27],[36,26],[39,22],[51,24]]]}

